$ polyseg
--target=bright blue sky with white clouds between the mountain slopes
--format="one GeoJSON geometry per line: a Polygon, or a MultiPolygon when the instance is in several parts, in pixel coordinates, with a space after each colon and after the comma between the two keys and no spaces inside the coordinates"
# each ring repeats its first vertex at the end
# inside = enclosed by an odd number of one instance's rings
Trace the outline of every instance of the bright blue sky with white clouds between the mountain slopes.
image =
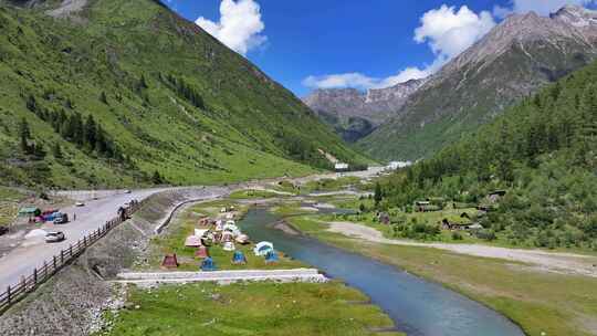
{"type": "Polygon", "coordinates": [[[594,0],[169,0],[298,96],[433,73],[510,12],[594,0]],[[201,18],[201,19],[199,19],[201,18]],[[199,19],[199,20],[198,20],[199,19]]]}

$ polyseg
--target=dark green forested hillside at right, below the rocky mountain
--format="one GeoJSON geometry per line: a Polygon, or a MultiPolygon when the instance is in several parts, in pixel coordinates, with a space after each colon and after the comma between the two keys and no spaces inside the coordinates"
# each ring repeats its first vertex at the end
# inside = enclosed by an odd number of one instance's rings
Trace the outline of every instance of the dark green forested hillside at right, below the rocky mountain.
{"type": "Polygon", "coordinates": [[[525,98],[432,158],[394,175],[384,204],[443,197],[479,204],[505,190],[481,224],[509,244],[597,250],[597,63],[525,98]]]}

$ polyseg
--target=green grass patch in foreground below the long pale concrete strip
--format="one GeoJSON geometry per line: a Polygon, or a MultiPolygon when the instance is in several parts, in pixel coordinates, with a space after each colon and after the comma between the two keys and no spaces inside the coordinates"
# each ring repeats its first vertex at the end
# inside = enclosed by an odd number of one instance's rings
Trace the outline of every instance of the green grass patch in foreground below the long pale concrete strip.
{"type": "Polygon", "coordinates": [[[112,318],[112,330],[96,336],[399,335],[373,332],[392,323],[367,301],[337,282],[132,287],[132,308],[112,318]]]}

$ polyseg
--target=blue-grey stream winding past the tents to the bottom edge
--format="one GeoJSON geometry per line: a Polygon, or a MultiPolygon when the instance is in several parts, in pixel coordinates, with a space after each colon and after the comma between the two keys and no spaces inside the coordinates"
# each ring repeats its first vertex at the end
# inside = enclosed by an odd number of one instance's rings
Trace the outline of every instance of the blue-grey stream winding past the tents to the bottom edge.
{"type": "Polygon", "coordinates": [[[342,279],[368,295],[409,336],[522,336],[496,312],[439,284],[395,266],[272,228],[280,220],[266,209],[251,210],[241,228],[253,241],[271,241],[296,260],[342,279]]]}

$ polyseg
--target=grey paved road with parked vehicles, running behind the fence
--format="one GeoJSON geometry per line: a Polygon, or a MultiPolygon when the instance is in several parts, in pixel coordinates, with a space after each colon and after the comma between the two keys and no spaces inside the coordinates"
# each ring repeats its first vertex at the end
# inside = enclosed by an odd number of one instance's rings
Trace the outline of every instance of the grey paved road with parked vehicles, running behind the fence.
{"type": "MultiPolygon", "coordinates": [[[[379,169],[371,169],[364,172],[347,174],[350,176],[367,177],[379,172],[379,169]]],[[[337,174],[317,175],[306,178],[295,179],[295,181],[304,182],[307,180],[316,180],[322,178],[335,178],[337,174]]],[[[86,201],[85,207],[64,208],[62,212],[69,213],[71,220],[76,213],[76,221],[72,221],[64,225],[54,225],[46,223],[41,229],[46,231],[62,231],[66,235],[66,240],[61,243],[48,244],[43,238],[28,239],[19,248],[0,258],[0,292],[7,286],[13,285],[21,280],[22,276],[30,275],[33,269],[42,266],[44,261],[50,261],[54,255],[60,254],[61,250],[67,249],[70,244],[76,243],[78,240],[88,235],[93,231],[101,228],[106,221],[116,217],[117,209],[130,200],[144,200],[147,197],[168,190],[189,190],[192,189],[192,198],[196,200],[214,199],[221,197],[233,189],[251,188],[264,183],[271,183],[280,179],[269,179],[263,181],[251,181],[231,186],[230,188],[222,187],[185,187],[185,188],[156,188],[133,190],[130,193],[117,192],[114,190],[94,191],[94,196],[103,197],[97,200],[86,201]]],[[[77,192],[74,192],[75,195],[77,192]]],[[[81,198],[85,199],[88,191],[80,191],[81,198]]]]}

